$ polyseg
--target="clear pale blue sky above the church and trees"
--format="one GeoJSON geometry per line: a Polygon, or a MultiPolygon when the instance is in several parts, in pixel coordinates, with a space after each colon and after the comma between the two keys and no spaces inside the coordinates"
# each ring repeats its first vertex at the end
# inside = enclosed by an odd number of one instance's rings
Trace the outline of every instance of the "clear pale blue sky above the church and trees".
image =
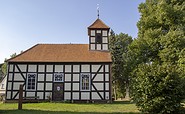
{"type": "Polygon", "coordinates": [[[138,5],[145,0],[0,0],[0,63],[38,43],[88,43],[87,27],[100,19],[137,37],[138,5]]]}

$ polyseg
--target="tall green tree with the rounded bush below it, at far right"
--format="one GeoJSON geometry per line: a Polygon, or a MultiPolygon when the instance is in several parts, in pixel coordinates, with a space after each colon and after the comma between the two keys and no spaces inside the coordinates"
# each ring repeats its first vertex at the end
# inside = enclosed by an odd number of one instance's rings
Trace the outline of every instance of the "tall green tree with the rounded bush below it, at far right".
{"type": "Polygon", "coordinates": [[[130,46],[133,99],[146,113],[178,113],[184,98],[185,1],[146,0],[130,46]]]}

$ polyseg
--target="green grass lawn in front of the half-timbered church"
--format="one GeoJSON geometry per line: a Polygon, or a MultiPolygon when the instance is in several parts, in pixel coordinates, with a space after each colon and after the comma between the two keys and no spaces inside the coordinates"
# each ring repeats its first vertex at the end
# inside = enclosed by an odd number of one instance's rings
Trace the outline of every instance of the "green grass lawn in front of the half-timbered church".
{"type": "Polygon", "coordinates": [[[26,103],[23,110],[17,110],[17,107],[17,103],[0,103],[0,114],[139,113],[135,104],[126,101],[112,104],[26,103]]]}

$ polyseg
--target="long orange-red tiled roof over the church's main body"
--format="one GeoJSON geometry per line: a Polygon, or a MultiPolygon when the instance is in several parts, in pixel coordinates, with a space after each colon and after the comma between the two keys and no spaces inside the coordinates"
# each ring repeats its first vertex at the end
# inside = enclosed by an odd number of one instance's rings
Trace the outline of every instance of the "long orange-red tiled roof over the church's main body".
{"type": "Polygon", "coordinates": [[[112,62],[110,52],[91,51],[88,44],[37,44],[8,62],[112,62]]]}

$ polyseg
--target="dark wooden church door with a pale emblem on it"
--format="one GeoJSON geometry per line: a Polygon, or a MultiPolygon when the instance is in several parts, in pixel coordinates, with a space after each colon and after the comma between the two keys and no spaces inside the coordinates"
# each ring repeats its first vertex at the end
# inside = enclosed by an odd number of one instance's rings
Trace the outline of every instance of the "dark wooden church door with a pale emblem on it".
{"type": "Polygon", "coordinates": [[[54,83],[53,101],[64,100],[64,83],[54,83]]]}

